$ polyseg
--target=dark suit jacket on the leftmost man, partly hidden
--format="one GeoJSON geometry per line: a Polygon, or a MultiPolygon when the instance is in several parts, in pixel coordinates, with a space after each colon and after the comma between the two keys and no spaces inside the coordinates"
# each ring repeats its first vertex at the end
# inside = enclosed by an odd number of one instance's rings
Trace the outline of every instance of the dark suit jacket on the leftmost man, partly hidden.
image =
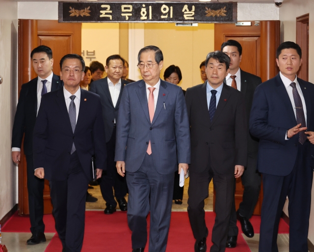
{"type": "MultiPolygon", "coordinates": [[[[22,85],[13,123],[11,147],[21,148],[25,133],[25,155],[33,153],[33,130],[37,115],[37,81],[38,77],[22,85]]],[[[59,76],[53,74],[51,91],[57,90],[62,86],[63,82],[60,81],[59,76]]]]}

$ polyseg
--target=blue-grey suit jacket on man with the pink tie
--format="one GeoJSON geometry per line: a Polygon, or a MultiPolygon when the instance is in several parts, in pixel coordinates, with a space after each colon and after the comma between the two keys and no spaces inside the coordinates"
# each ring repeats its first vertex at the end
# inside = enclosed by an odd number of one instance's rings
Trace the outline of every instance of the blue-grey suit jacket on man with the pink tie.
{"type": "Polygon", "coordinates": [[[178,163],[190,163],[189,125],[181,87],[160,80],[152,123],[145,82],[141,80],[124,87],[118,113],[115,161],[125,161],[126,170],[135,172],[143,163],[150,140],[158,173],[170,174],[178,169],[178,163]]]}

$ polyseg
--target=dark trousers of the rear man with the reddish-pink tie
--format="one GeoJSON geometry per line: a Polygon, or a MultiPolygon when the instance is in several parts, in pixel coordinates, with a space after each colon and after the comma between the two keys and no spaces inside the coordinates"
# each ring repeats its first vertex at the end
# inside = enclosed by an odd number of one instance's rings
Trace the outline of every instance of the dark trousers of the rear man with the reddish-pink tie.
{"type": "MultiPolygon", "coordinates": [[[[248,156],[247,168],[241,176],[244,186],[242,202],[239,205],[239,214],[251,219],[254,208],[259,200],[261,190],[261,174],[256,170],[257,158],[248,156]]],[[[235,191],[235,187],[234,187],[235,191]]],[[[235,196],[233,197],[228,236],[237,236],[235,196]]]]}

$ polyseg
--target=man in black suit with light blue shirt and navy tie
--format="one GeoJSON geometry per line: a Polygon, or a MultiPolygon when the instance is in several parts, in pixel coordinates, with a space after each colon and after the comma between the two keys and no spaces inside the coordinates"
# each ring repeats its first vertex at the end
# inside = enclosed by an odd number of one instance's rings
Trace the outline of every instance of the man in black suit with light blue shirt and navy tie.
{"type": "Polygon", "coordinates": [[[224,84],[230,58],[215,51],[205,60],[208,81],[186,90],[185,101],[191,128],[191,164],[188,216],[195,252],[207,250],[208,228],[204,199],[212,179],[216,190],[216,219],[210,252],[224,252],[228,235],[235,177],[247,163],[247,119],[244,96],[224,84]]]}

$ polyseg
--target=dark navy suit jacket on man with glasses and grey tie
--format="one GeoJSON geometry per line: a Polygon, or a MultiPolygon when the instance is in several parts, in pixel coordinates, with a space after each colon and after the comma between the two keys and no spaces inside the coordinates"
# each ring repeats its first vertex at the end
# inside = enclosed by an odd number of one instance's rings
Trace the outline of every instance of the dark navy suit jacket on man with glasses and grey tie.
{"type": "Polygon", "coordinates": [[[34,169],[43,167],[48,180],[65,180],[73,142],[89,179],[92,174],[92,155],[96,156],[96,167],[106,169],[105,131],[99,95],[81,89],[74,133],[63,88],[43,95],[34,127],[34,169]]]}

